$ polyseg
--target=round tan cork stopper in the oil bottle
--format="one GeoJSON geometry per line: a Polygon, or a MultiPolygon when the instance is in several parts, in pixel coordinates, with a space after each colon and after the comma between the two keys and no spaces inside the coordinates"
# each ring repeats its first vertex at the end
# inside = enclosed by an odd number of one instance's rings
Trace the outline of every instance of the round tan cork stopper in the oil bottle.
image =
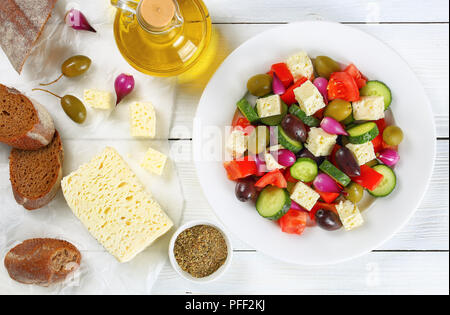
{"type": "Polygon", "coordinates": [[[155,28],[169,25],[175,16],[175,10],[173,0],[142,0],[140,7],[144,21],[155,28]]]}

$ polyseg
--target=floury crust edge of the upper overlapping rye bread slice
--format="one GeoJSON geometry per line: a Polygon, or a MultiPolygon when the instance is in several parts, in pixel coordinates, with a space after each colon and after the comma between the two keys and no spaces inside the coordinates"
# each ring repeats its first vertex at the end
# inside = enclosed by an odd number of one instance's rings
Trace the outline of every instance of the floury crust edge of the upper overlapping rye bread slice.
{"type": "Polygon", "coordinates": [[[38,117],[38,122],[23,134],[16,135],[12,138],[0,137],[0,142],[6,143],[13,148],[21,150],[39,150],[47,146],[53,139],[55,134],[55,125],[53,119],[44,106],[32,100],[14,88],[9,88],[0,84],[0,89],[6,90],[10,94],[18,94],[25,97],[34,107],[38,117]]]}

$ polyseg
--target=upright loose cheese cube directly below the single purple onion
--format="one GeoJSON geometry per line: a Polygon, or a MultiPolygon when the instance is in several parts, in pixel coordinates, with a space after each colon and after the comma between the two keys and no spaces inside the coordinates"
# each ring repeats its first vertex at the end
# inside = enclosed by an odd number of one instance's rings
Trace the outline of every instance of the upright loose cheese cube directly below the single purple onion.
{"type": "Polygon", "coordinates": [[[154,138],[156,113],[152,103],[135,102],[130,105],[131,135],[137,138],[154,138]]]}

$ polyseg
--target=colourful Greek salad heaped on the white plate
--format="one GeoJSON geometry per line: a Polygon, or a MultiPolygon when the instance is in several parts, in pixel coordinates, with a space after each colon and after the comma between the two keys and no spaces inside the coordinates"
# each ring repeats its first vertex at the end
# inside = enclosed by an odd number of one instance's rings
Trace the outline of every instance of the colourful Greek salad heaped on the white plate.
{"type": "Polygon", "coordinates": [[[388,125],[389,87],[354,65],[306,52],[247,83],[237,102],[224,162],[235,194],[281,230],[347,231],[364,223],[367,192],[390,195],[402,130],[388,125]]]}

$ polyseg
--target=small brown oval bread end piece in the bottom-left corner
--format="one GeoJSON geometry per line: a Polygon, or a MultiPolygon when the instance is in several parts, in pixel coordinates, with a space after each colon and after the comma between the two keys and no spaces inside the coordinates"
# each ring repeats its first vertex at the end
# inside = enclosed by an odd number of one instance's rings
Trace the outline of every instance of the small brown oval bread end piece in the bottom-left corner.
{"type": "Polygon", "coordinates": [[[11,249],[4,260],[11,279],[45,287],[64,281],[80,263],[81,253],[74,245],[50,238],[26,240],[11,249]]]}

